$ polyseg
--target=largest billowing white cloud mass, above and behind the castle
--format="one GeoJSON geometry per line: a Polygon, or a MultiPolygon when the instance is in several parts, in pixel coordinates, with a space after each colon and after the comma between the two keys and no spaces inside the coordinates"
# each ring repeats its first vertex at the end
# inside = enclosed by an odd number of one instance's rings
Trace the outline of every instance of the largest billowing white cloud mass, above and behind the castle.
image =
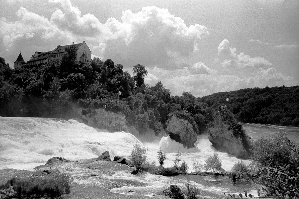
{"type": "Polygon", "coordinates": [[[111,58],[124,66],[140,63],[147,67],[170,68],[175,56],[189,56],[200,48],[202,36],[209,34],[207,27],[187,26],[168,9],[155,6],[144,7],[137,13],[123,11],[121,21],[109,18],[102,24],[91,13],[83,15],[70,0],[49,0],[48,3],[60,4],[51,18],[21,7],[16,13],[17,21],[0,19],[1,52],[7,49],[2,56],[12,61],[15,57],[8,51],[14,52],[23,44],[33,51],[22,53],[27,61],[35,50],[52,50],[58,44],[84,40],[94,55],[111,58]]]}

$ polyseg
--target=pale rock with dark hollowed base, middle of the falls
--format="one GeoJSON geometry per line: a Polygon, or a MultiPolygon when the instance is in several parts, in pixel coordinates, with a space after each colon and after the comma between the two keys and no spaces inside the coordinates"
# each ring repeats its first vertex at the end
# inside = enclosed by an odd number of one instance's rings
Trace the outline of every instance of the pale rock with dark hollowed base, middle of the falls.
{"type": "Polygon", "coordinates": [[[196,132],[193,126],[184,119],[173,115],[167,125],[167,131],[171,139],[181,143],[184,147],[191,148],[196,142],[196,132]]]}

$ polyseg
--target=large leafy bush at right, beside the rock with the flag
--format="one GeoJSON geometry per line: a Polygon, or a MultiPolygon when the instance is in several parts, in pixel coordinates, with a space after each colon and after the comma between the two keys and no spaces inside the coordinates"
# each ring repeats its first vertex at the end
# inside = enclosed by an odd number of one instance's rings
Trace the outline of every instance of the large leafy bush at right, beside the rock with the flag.
{"type": "Polygon", "coordinates": [[[291,148],[286,139],[286,135],[280,132],[254,141],[251,158],[263,166],[274,166],[276,162],[282,165],[288,163],[291,148]]]}

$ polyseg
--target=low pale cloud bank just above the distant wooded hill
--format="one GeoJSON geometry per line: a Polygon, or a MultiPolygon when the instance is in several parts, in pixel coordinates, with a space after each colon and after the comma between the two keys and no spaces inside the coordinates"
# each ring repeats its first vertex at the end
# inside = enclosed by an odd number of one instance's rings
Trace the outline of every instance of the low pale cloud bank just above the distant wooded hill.
{"type": "Polygon", "coordinates": [[[196,97],[244,88],[298,84],[298,81],[283,75],[273,67],[266,70],[258,68],[250,76],[226,75],[216,71],[212,71],[210,75],[204,75],[188,72],[187,69],[170,71],[157,67],[149,72],[159,75],[159,81],[162,81],[163,85],[170,89],[172,95],[181,95],[183,91],[187,91],[196,97]]]}

